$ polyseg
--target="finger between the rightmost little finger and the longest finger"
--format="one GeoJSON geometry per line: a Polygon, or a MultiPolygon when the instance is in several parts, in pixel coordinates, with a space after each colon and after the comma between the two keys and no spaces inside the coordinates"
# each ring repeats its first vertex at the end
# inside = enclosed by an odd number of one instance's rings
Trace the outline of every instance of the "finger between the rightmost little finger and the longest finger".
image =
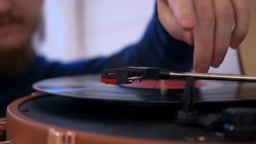
{"type": "Polygon", "coordinates": [[[218,68],[228,52],[235,14],[230,1],[213,0],[212,2],[215,14],[215,33],[211,66],[218,68]]]}

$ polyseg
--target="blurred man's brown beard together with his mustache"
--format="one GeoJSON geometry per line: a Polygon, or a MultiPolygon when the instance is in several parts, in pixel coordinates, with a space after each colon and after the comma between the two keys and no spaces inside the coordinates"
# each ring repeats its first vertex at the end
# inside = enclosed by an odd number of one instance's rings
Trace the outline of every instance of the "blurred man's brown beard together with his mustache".
{"type": "MultiPolygon", "coordinates": [[[[7,21],[25,25],[22,16],[14,14],[13,11],[0,13],[0,26],[7,21]]],[[[37,22],[34,23],[32,31],[36,29],[37,25],[37,22]]],[[[36,57],[31,40],[29,38],[13,47],[0,45],[0,77],[15,77],[26,73],[36,57]]]]}

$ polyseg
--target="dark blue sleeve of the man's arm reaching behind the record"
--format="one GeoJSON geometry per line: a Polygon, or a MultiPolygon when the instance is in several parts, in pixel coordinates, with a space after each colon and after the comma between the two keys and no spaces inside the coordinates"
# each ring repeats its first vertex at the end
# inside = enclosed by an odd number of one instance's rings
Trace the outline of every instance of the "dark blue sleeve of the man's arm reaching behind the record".
{"type": "Polygon", "coordinates": [[[138,43],[125,47],[110,57],[98,57],[69,64],[51,63],[51,76],[102,73],[119,67],[159,67],[173,71],[190,71],[193,47],[173,39],[162,27],[157,9],[138,43]]]}

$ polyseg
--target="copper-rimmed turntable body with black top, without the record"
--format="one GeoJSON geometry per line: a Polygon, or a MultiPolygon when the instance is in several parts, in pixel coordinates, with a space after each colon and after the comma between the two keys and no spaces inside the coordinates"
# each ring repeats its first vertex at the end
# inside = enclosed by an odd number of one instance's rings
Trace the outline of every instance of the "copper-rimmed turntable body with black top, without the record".
{"type": "Polygon", "coordinates": [[[170,121],[172,116],[162,115],[168,111],[166,107],[120,106],[49,94],[29,95],[8,106],[7,139],[26,144],[237,142],[207,130],[174,124],[170,121]]]}

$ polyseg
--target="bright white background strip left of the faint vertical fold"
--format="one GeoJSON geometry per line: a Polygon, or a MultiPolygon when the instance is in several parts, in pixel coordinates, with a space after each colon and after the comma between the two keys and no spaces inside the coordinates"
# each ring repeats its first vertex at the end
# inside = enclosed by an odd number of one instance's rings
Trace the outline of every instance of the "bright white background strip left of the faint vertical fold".
{"type": "Polygon", "coordinates": [[[78,1],[44,1],[45,39],[38,51],[48,59],[71,61],[82,56],[78,33],[78,1]]]}

